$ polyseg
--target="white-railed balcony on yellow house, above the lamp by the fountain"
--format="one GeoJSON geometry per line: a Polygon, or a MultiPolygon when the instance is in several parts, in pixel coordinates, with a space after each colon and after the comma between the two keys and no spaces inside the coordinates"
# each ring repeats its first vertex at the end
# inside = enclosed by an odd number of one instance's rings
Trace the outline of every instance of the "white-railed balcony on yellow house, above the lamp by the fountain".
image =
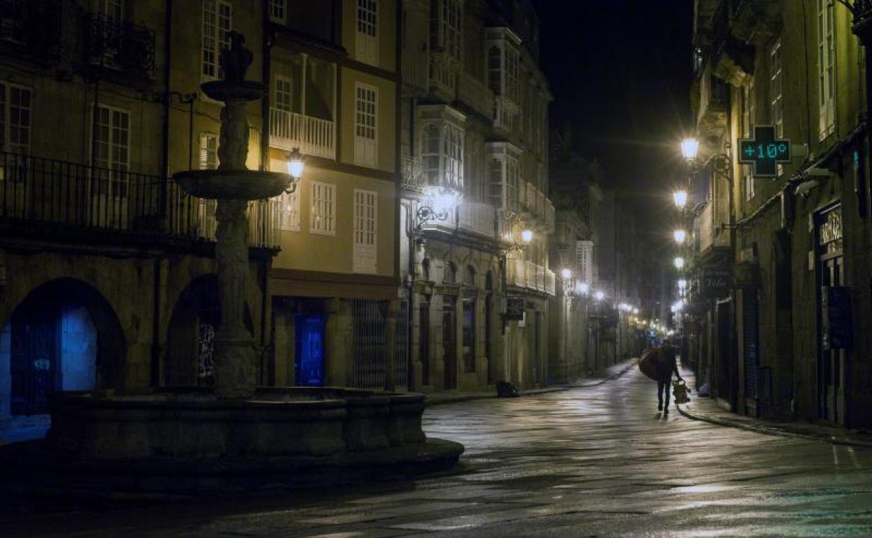
{"type": "Polygon", "coordinates": [[[277,108],[269,109],[269,146],[336,160],[336,124],[277,108]]]}

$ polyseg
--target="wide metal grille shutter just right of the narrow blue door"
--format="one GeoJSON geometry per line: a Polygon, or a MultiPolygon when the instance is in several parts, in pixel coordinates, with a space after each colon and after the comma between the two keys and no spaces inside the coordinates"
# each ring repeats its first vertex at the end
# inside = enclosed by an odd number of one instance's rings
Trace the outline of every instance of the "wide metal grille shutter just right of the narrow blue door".
{"type": "Polygon", "coordinates": [[[378,301],[351,301],[354,316],[354,378],[351,384],[361,389],[385,387],[385,323],[378,301]]]}

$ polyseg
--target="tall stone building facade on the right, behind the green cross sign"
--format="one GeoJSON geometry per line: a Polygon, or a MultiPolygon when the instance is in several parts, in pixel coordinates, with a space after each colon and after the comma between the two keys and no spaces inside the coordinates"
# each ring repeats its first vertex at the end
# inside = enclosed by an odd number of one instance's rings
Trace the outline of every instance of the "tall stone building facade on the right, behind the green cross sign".
{"type": "Polygon", "coordinates": [[[851,13],[813,0],[696,13],[700,375],[736,412],[867,427],[869,88],[851,13]],[[793,147],[770,179],[738,161],[765,125],[793,147]]]}

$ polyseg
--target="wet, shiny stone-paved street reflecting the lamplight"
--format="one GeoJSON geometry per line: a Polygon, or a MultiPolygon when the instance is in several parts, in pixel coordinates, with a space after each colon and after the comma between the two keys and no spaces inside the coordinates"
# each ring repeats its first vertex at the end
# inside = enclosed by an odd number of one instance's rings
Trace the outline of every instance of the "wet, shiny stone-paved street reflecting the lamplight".
{"type": "MultiPolygon", "coordinates": [[[[692,385],[692,384],[689,384],[692,385]]],[[[596,387],[439,405],[452,473],[245,500],[4,513],[0,535],[872,535],[872,450],[657,412],[632,369],[596,387]]]]}

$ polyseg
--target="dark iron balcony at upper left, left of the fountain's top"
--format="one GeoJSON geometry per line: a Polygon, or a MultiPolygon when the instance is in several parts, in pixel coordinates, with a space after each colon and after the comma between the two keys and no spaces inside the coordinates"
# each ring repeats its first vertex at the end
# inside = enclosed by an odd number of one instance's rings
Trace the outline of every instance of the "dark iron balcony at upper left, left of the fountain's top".
{"type": "Polygon", "coordinates": [[[137,24],[85,15],[85,65],[99,65],[134,77],[154,77],[154,32],[137,24]]]}

